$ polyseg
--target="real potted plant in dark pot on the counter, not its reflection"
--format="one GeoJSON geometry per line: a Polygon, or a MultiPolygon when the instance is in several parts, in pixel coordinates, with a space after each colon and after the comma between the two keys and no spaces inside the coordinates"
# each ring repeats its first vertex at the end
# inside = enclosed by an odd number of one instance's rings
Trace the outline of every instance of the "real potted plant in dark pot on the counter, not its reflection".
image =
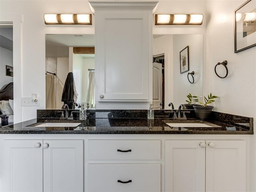
{"type": "Polygon", "coordinates": [[[204,102],[200,102],[198,101],[198,103],[200,105],[198,106],[193,106],[196,116],[200,119],[200,120],[205,120],[207,119],[210,114],[212,113],[212,109],[213,106],[208,106],[208,104],[211,104],[213,102],[215,102],[215,99],[219,98],[218,96],[214,96],[212,95],[212,93],[210,93],[210,95],[208,95],[208,97],[204,97],[204,102]]]}

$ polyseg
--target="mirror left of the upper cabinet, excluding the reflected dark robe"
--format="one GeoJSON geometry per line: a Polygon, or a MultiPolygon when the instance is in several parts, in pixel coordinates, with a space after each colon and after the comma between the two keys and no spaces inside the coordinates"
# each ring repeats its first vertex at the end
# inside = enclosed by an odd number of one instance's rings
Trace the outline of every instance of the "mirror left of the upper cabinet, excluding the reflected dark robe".
{"type": "Polygon", "coordinates": [[[46,34],[46,109],[63,106],[69,72],[74,77],[76,103],[95,108],[94,63],[94,34],[46,34]]]}

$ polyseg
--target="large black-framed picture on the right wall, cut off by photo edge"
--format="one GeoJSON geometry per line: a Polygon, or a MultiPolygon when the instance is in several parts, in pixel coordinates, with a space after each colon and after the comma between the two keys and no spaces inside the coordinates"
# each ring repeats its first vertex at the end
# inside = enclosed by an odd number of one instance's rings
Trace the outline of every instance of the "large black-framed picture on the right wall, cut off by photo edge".
{"type": "Polygon", "coordinates": [[[248,0],[235,10],[235,53],[256,46],[256,2],[248,0]]]}

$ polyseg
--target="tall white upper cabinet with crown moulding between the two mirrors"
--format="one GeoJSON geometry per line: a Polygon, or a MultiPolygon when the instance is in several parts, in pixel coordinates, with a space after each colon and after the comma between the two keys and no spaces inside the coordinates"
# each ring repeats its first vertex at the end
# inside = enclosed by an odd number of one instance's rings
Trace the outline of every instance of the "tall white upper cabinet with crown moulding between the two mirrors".
{"type": "Polygon", "coordinates": [[[95,10],[96,101],[152,101],[152,10],[157,1],[89,1],[95,10]]]}

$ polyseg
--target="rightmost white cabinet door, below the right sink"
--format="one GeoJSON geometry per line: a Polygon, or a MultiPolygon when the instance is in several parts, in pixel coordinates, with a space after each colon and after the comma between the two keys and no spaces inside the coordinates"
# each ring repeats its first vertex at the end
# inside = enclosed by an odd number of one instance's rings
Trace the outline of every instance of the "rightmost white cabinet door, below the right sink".
{"type": "Polygon", "coordinates": [[[246,191],[246,141],[206,141],[206,191],[246,191]]]}

